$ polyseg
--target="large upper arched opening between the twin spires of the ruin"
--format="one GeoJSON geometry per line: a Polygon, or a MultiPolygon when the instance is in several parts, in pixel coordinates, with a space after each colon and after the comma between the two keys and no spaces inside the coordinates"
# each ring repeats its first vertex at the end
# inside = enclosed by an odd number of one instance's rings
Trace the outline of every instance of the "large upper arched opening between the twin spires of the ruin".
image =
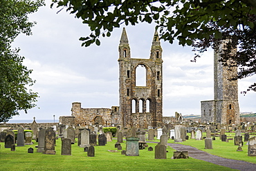
{"type": "Polygon", "coordinates": [[[136,86],[146,86],[147,71],[143,64],[136,67],[136,86]]]}

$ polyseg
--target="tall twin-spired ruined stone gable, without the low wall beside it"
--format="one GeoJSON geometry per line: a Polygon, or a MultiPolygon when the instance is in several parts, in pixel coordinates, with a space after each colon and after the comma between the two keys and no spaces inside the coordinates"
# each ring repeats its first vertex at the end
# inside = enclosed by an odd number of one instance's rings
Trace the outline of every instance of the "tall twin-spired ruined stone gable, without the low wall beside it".
{"type": "Polygon", "coordinates": [[[149,59],[132,59],[125,28],[119,44],[119,105],[122,125],[156,127],[163,119],[162,48],[154,33],[149,59]],[[145,86],[136,85],[136,69],[145,68],[145,86]]]}

